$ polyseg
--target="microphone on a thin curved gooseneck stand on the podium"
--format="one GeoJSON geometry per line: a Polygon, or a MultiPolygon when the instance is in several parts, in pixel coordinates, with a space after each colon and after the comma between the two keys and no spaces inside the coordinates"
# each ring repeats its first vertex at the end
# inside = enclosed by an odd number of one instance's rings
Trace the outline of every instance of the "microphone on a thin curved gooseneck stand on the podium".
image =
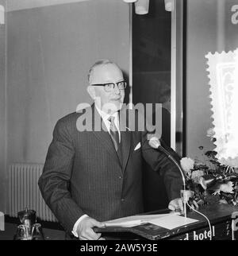
{"type": "Polygon", "coordinates": [[[185,192],[185,195],[183,195],[183,208],[184,208],[184,216],[186,218],[186,200],[188,200],[187,196],[186,196],[186,182],[185,182],[185,176],[182,172],[182,168],[180,167],[180,165],[178,165],[178,162],[175,160],[174,157],[171,156],[171,153],[169,153],[166,149],[163,148],[163,146],[161,145],[161,143],[159,142],[159,138],[157,137],[152,137],[149,139],[148,144],[153,148],[153,149],[159,149],[160,151],[162,151],[178,168],[178,170],[181,173],[182,176],[182,184],[183,184],[183,189],[185,192]]]}

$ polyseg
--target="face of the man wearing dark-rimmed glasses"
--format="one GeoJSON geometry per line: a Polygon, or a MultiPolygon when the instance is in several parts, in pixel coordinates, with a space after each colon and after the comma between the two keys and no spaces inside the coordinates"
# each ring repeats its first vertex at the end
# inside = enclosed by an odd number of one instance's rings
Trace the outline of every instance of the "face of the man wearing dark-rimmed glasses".
{"type": "MultiPolygon", "coordinates": [[[[115,64],[105,64],[94,68],[90,76],[90,84],[98,83],[117,83],[123,81],[121,69],[115,64]]],[[[103,86],[92,86],[95,95],[95,104],[105,111],[118,111],[121,109],[121,104],[124,101],[125,90],[119,90],[117,85],[114,85],[112,91],[105,91],[103,86]]]]}

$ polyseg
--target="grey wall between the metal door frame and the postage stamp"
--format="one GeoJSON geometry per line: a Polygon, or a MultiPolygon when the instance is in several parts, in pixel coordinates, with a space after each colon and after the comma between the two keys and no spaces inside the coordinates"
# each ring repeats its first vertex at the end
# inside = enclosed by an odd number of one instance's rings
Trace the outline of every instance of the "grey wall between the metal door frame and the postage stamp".
{"type": "Polygon", "coordinates": [[[235,0],[187,0],[186,17],[186,155],[202,159],[214,145],[206,137],[212,127],[209,79],[205,71],[208,52],[238,47],[238,25],[231,22],[235,0]]]}

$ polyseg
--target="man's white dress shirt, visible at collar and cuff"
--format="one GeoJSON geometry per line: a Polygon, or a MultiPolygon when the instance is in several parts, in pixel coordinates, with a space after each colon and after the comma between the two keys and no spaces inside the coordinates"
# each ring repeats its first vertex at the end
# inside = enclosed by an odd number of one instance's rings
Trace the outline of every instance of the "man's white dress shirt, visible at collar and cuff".
{"type": "MultiPolygon", "coordinates": [[[[102,117],[102,121],[105,123],[106,125],[106,129],[108,130],[108,132],[110,133],[110,122],[108,120],[108,118],[110,116],[113,116],[114,117],[114,123],[115,123],[115,126],[117,127],[117,130],[118,130],[118,133],[119,133],[119,143],[121,142],[121,133],[120,133],[120,130],[119,130],[119,116],[118,116],[118,112],[115,112],[114,114],[107,114],[106,112],[103,112],[101,111],[95,104],[95,108],[97,109],[98,113],[101,115],[102,117]]],[[[86,217],[88,217],[88,215],[82,215],[75,223],[74,225],[74,228],[73,228],[73,231],[71,231],[73,233],[73,235],[75,235],[76,238],[78,238],[78,233],[77,233],[77,228],[79,226],[79,223],[85,219],[86,217]]]]}

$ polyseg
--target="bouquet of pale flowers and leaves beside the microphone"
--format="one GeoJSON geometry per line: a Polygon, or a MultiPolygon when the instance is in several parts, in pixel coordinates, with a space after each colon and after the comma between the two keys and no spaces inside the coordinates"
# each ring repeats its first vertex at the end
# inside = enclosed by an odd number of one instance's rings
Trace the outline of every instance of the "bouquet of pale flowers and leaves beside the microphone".
{"type": "MultiPolygon", "coordinates": [[[[200,148],[200,147],[199,147],[200,148]]],[[[203,149],[202,147],[200,149],[203,149]]],[[[205,153],[205,161],[183,157],[180,164],[186,189],[192,191],[198,206],[204,204],[233,204],[238,206],[238,172],[221,165],[215,151],[205,153]]]]}

